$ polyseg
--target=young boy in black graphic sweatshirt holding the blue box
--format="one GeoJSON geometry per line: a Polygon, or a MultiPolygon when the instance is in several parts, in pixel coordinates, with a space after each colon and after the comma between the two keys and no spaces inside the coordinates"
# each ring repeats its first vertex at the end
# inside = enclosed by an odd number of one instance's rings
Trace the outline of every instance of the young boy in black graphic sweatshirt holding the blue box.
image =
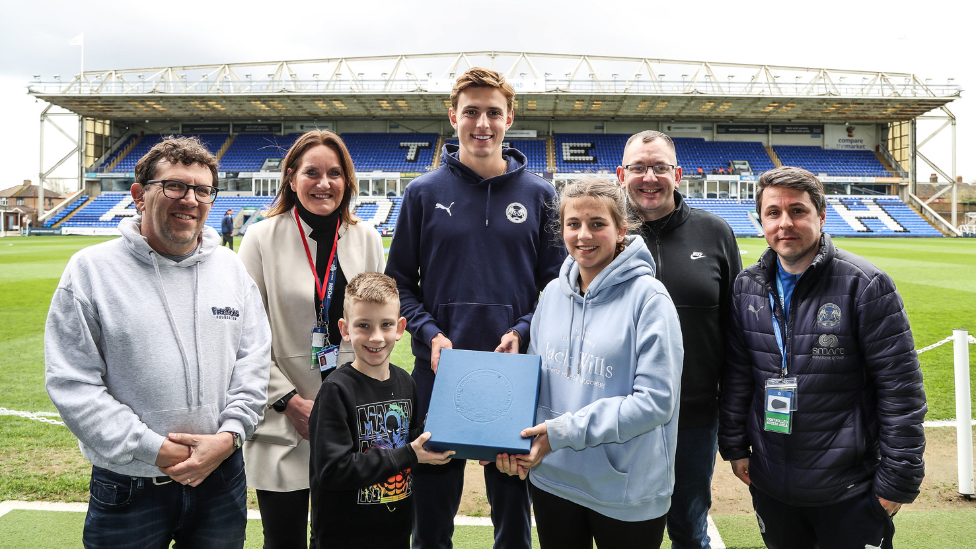
{"type": "Polygon", "coordinates": [[[339,330],[356,360],[325,379],[309,417],[317,547],[409,547],[410,469],[447,463],[454,453],[424,449],[430,433],[420,434],[413,378],[390,364],[406,322],[392,278],[362,273],[346,285],[339,330]]]}

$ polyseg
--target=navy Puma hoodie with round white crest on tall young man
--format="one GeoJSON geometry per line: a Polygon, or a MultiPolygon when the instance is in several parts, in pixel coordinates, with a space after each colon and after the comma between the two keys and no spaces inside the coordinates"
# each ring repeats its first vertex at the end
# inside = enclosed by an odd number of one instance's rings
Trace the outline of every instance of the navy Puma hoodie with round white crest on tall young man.
{"type": "Polygon", "coordinates": [[[441,166],[403,193],[386,274],[400,290],[413,354],[430,363],[443,332],[455,349],[493,351],[509,329],[522,350],[539,293],[566,255],[548,230],[558,224],[553,186],[503,149],[508,170],[485,179],[445,145],[441,166]]]}

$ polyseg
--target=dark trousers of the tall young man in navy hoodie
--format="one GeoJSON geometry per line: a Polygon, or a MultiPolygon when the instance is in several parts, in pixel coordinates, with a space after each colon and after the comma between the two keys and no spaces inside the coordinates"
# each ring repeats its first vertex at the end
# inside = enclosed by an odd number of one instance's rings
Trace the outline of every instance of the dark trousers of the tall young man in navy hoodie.
{"type": "MultiPolygon", "coordinates": [[[[434,373],[430,363],[416,361],[417,417],[427,417],[434,373]]],[[[464,460],[447,465],[417,465],[413,468],[414,549],[450,549],[454,516],[461,506],[464,489],[464,460]]],[[[532,546],[528,482],[509,476],[494,464],[486,465],[485,488],[495,526],[495,549],[529,549],[532,546]]]]}

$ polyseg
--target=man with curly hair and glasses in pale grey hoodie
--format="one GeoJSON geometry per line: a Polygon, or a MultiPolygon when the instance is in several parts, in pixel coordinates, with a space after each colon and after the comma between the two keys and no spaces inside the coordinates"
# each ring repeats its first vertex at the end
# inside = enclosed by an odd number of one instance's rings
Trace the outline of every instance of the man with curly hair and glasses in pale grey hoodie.
{"type": "Polygon", "coordinates": [[[47,390],[92,462],[85,547],[241,548],[241,444],[267,404],[271,332],[206,227],[217,162],[168,138],[136,164],[140,216],[68,262],[44,333],[47,390]]]}

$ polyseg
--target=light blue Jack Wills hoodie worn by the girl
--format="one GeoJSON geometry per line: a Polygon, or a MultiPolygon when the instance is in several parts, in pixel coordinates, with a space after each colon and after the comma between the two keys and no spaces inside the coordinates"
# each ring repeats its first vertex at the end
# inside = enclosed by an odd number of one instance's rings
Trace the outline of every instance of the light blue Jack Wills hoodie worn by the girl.
{"type": "Polygon", "coordinates": [[[542,356],[536,423],[546,422],[552,452],[529,479],[636,522],[671,507],[684,349],[647,246],[626,243],[585,295],[567,257],[539,300],[528,352],[542,356]]]}

